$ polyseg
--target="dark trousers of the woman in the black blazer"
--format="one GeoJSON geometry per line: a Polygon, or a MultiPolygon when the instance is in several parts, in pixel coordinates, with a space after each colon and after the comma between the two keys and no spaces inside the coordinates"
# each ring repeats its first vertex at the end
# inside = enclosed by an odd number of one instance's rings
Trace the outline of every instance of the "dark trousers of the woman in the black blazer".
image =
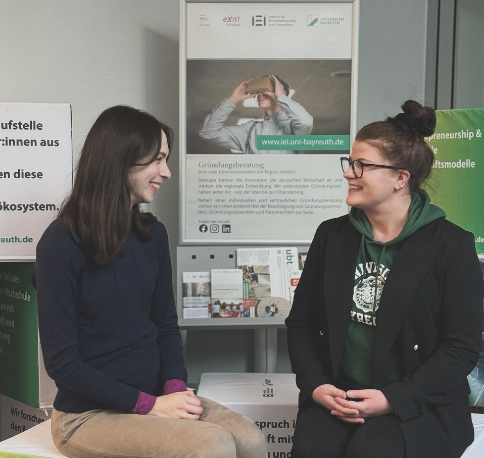
{"type": "Polygon", "coordinates": [[[310,400],[298,414],[291,458],[405,458],[405,439],[393,416],[354,425],[310,400]]]}

